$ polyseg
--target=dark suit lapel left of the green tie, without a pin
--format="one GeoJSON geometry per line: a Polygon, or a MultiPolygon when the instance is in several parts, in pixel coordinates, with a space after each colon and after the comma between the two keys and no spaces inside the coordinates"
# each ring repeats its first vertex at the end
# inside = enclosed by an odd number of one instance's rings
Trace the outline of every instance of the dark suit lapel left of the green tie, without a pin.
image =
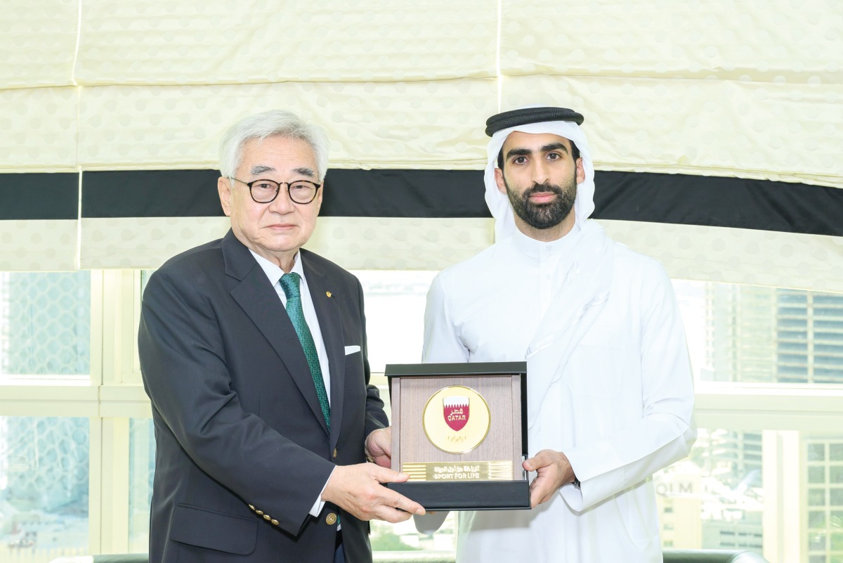
{"type": "MultiPolygon", "coordinates": [[[[275,288],[271,286],[249,249],[240,243],[231,231],[228,231],[223,239],[223,257],[226,274],[239,280],[231,290],[231,296],[281,358],[290,377],[327,434],[328,427],[325,426],[325,418],[316,396],[308,360],[304,357],[302,346],[298,345],[296,330],[275,288]],[[291,343],[296,346],[291,346],[291,343]]],[[[321,322],[319,319],[319,323],[321,322]]],[[[332,359],[330,361],[333,362],[332,359]]]]}

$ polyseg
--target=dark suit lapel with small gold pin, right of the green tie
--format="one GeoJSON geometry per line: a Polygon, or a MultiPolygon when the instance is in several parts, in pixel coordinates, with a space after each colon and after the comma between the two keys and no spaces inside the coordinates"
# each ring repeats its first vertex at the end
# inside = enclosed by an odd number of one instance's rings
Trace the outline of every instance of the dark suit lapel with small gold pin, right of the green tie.
{"type": "Polygon", "coordinates": [[[319,330],[322,331],[322,340],[325,341],[325,351],[328,353],[328,364],[330,373],[330,447],[335,448],[337,438],[340,436],[342,422],[343,395],[345,394],[346,373],[346,349],[345,339],[342,336],[342,319],[340,310],[336,307],[337,292],[343,287],[331,285],[327,272],[314,265],[309,260],[308,251],[302,250],[302,266],[304,276],[308,279],[310,298],[316,309],[316,316],[319,318],[319,330]]]}

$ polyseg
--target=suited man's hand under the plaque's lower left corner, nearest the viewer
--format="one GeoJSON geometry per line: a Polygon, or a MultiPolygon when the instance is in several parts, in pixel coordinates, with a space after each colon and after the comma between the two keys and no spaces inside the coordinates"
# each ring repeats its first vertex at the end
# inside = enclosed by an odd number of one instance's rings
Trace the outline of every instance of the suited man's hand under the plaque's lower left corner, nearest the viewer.
{"type": "Polygon", "coordinates": [[[374,464],[337,465],[322,491],[322,500],[333,502],[361,520],[403,522],[413,514],[424,514],[424,508],[381,483],[400,483],[409,478],[405,473],[374,464]]]}

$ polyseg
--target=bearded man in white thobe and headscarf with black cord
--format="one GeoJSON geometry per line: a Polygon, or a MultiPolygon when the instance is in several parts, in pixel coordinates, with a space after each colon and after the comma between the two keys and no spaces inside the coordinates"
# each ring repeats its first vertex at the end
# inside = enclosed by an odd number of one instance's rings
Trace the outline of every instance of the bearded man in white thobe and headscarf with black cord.
{"type": "Polygon", "coordinates": [[[652,474],[696,437],[685,332],[658,262],[588,219],[582,123],[547,107],[486,121],[497,242],[427,295],[424,362],[527,362],[533,509],[459,513],[459,563],[662,560],[652,474]]]}

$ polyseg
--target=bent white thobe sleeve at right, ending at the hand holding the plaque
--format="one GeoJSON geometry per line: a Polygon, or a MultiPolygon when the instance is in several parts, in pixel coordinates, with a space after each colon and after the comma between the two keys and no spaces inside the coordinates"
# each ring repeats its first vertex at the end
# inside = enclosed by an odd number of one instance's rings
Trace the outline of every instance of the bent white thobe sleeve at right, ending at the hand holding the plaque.
{"type": "Polygon", "coordinates": [[[581,511],[688,455],[696,439],[694,389],[673,287],[659,267],[642,298],[642,418],[620,432],[566,451],[581,488],[560,489],[581,511]]]}

